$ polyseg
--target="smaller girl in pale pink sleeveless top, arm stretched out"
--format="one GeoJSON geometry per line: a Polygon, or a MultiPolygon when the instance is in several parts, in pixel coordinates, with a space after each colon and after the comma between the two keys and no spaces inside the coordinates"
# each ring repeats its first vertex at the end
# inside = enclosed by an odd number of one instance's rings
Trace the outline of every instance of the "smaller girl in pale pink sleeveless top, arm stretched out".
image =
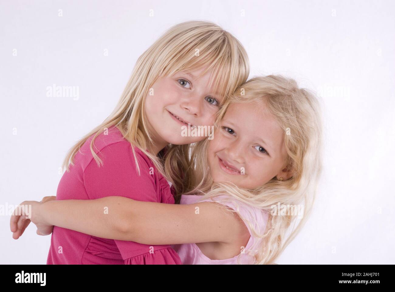
{"type": "Polygon", "coordinates": [[[191,153],[200,183],[181,196],[181,205],[119,196],[26,201],[39,233],[56,225],[171,244],[183,264],[273,264],[314,200],[321,171],[318,100],[293,79],[269,75],[247,81],[225,107],[213,139],[191,153]],[[111,216],[96,211],[103,206],[114,210],[111,216]]]}

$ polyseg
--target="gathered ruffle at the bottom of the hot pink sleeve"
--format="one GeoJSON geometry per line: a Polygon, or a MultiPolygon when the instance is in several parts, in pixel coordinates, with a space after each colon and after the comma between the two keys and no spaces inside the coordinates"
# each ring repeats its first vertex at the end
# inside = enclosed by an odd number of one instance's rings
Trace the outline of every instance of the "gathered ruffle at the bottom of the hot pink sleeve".
{"type": "Polygon", "coordinates": [[[170,247],[128,258],[124,263],[125,265],[182,265],[177,252],[170,247]]]}

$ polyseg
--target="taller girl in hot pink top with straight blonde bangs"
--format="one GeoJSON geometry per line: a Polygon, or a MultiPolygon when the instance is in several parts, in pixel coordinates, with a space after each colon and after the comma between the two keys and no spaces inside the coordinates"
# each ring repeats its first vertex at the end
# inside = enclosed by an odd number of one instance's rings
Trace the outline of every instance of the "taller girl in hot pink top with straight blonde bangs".
{"type": "MultiPolygon", "coordinates": [[[[56,202],[116,195],[173,204],[174,195],[190,189],[188,144],[205,138],[184,135],[184,128],[213,126],[220,105],[248,74],[245,49],[216,24],[187,21],[171,27],[138,58],[111,115],[70,149],[56,202]]],[[[111,217],[115,209],[96,211],[111,217]]],[[[20,224],[11,223],[13,238],[29,222],[19,230],[20,224]]],[[[106,239],[59,225],[53,228],[47,264],[181,261],[169,244],[106,239]]]]}

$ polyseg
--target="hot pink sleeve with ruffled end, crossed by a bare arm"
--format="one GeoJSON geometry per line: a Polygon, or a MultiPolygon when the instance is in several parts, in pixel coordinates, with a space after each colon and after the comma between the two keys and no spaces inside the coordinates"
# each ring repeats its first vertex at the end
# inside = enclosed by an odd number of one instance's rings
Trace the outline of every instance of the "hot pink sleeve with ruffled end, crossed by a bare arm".
{"type": "MultiPolygon", "coordinates": [[[[137,173],[132,146],[120,141],[104,147],[99,154],[100,167],[95,160],[84,171],[84,184],[90,199],[123,196],[138,201],[160,202],[155,180],[150,174],[144,154],[136,149],[140,174],[137,173]]],[[[115,240],[124,264],[181,264],[170,245],[144,245],[133,241],[115,240]]]]}

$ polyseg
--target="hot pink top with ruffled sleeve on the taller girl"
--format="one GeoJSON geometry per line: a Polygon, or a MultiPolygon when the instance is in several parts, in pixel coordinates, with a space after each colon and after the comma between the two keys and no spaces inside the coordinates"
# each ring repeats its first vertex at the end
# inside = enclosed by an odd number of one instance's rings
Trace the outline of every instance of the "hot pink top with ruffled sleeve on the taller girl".
{"type": "MultiPolygon", "coordinates": [[[[75,155],[75,165],[70,165],[70,172],[62,176],[56,200],[124,196],[139,201],[174,203],[167,180],[156,171],[151,160],[135,148],[141,173],[138,175],[132,147],[118,128],[109,128],[108,135],[102,133],[94,141],[96,153],[100,151],[103,161],[100,168],[90,152],[91,140],[92,137],[81,147],[83,154],[75,155]]],[[[181,260],[170,245],[104,239],[54,226],[47,264],[181,264],[181,260]]]]}

